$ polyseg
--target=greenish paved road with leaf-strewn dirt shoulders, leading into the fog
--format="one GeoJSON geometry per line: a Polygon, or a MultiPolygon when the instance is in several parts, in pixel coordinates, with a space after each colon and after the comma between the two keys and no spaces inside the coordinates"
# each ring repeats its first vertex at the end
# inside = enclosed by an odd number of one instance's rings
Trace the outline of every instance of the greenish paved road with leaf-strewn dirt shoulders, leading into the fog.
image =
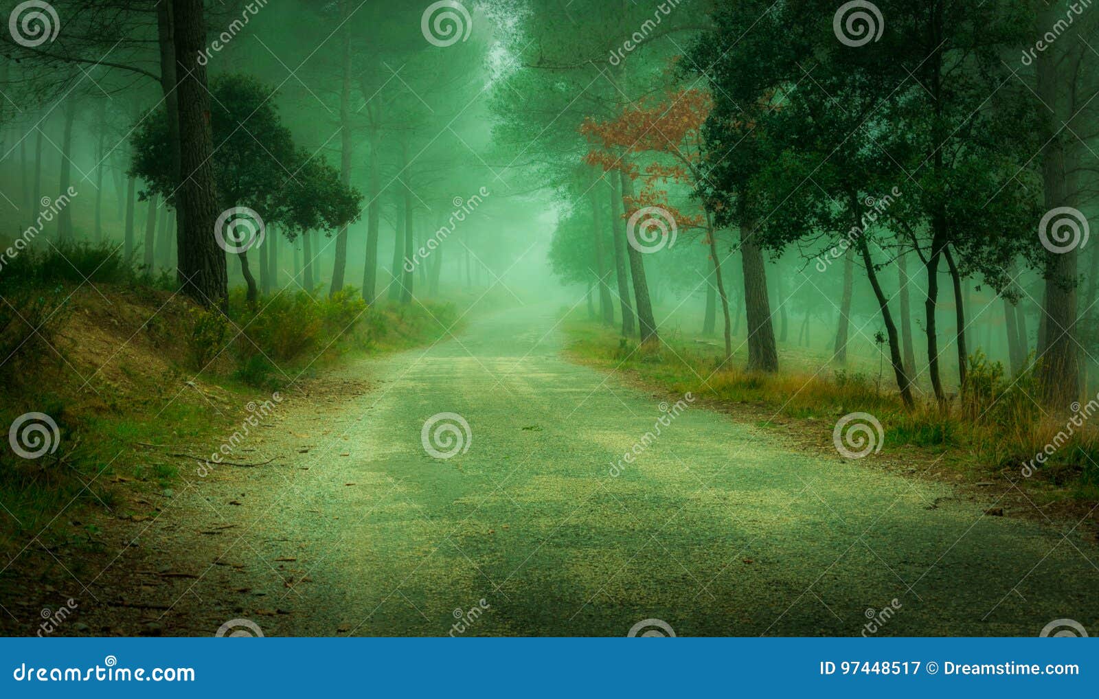
{"type": "Polygon", "coordinates": [[[1099,624],[1079,521],[991,515],[999,489],[928,478],[934,459],[848,462],[701,401],[671,418],[682,396],[564,346],[525,309],[325,369],[238,445],[270,463],[181,467],[115,508],[147,514],[91,512],[96,551],[19,558],[0,629],[33,634],[69,598],[55,634],[850,636],[887,607],[879,635],[1099,624]],[[445,461],[421,437],[441,412],[469,425],[445,461]]]}

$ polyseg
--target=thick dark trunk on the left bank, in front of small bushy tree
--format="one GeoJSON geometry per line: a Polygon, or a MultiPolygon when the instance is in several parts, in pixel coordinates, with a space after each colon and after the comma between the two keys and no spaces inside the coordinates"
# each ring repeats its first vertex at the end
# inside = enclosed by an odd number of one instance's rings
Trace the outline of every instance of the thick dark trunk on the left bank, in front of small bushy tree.
{"type": "Polygon", "coordinates": [[[214,237],[218,189],[213,176],[210,91],[199,54],[206,47],[202,0],[173,0],[179,93],[179,149],[182,186],[177,192],[182,214],[179,277],[184,293],[198,303],[227,310],[229,275],[214,237]]]}

